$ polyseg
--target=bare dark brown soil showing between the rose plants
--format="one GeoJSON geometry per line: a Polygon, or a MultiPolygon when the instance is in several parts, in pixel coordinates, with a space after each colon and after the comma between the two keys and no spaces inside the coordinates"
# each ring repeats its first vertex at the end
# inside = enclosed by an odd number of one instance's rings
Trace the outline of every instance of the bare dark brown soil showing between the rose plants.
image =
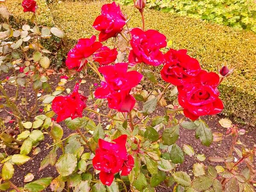
{"type": "MultiPolygon", "coordinates": [[[[0,80],[3,80],[6,78],[6,76],[11,76],[11,73],[7,73],[7,74],[1,74],[0,75],[0,80]]],[[[97,83],[98,80],[97,79],[93,79],[91,77],[86,77],[84,78],[86,80],[86,83],[81,84],[80,89],[83,92],[84,96],[88,96],[89,93],[89,86],[91,84],[97,83]]],[[[76,83],[76,81],[79,81],[80,78],[76,77],[73,81],[69,81],[67,82],[67,84],[65,85],[65,88],[70,88],[70,90],[73,90],[73,87],[76,83]]],[[[52,82],[51,84],[51,88],[52,90],[55,90],[55,87],[58,86],[58,82],[60,81],[60,75],[51,75],[49,76],[49,80],[48,82],[52,82]]],[[[7,94],[9,96],[14,96],[15,92],[16,92],[16,87],[12,86],[12,85],[8,85],[8,84],[4,84],[3,87],[5,88],[5,90],[7,91],[7,94]]],[[[29,86],[32,87],[32,86],[29,86]]],[[[24,93],[25,90],[21,89],[19,92],[19,98],[17,102],[20,102],[20,98],[24,97],[24,93]]],[[[29,102],[28,108],[32,108],[34,106],[34,91],[31,88],[28,88],[27,93],[31,93],[30,95],[28,95],[28,97],[31,97],[29,99],[31,99],[31,101],[29,102]]],[[[44,95],[45,93],[42,93],[42,95],[44,95]]],[[[4,99],[0,100],[0,104],[3,104],[4,99]]],[[[87,105],[90,105],[87,104],[87,105]]],[[[43,107],[41,107],[43,108],[43,107]]],[[[20,110],[22,111],[22,108],[20,108],[20,110]]],[[[103,112],[101,111],[101,113],[107,113],[107,108],[101,109],[103,110],[103,112]]],[[[41,112],[38,112],[36,115],[39,115],[41,112]]],[[[9,114],[3,110],[0,112],[0,117],[6,118],[6,116],[8,116],[9,114]]],[[[157,115],[163,115],[163,108],[157,108],[157,110],[154,112],[155,116],[157,115]]],[[[209,127],[212,129],[212,132],[220,132],[222,134],[225,134],[225,132],[227,131],[226,128],[221,127],[221,125],[218,123],[219,119],[224,118],[223,116],[219,116],[219,115],[215,115],[215,116],[204,116],[203,119],[205,122],[207,122],[207,124],[209,125],[209,127]]],[[[93,120],[97,121],[98,118],[97,116],[93,117],[93,120]]],[[[106,119],[103,119],[106,120],[106,119]]],[[[232,120],[232,119],[231,119],[232,120]]],[[[6,123],[6,126],[9,127],[13,127],[15,124],[15,122],[13,122],[12,124],[10,123],[6,123]]],[[[68,129],[64,123],[61,123],[61,126],[64,130],[64,135],[63,138],[68,137],[70,134],[74,133],[75,131],[68,129]]],[[[104,123],[103,123],[104,126],[104,123]]],[[[239,137],[239,141],[241,141],[241,143],[243,143],[244,145],[247,145],[247,148],[253,148],[253,145],[256,143],[256,129],[253,127],[249,127],[247,125],[238,125],[239,128],[243,128],[246,131],[246,134],[244,134],[243,136],[239,137]]],[[[23,183],[24,180],[24,176],[27,175],[28,173],[32,173],[33,175],[35,175],[34,180],[40,179],[42,177],[57,177],[58,176],[58,172],[56,171],[55,167],[52,166],[48,166],[45,169],[41,170],[40,172],[38,171],[39,167],[40,167],[40,163],[41,160],[43,160],[43,158],[49,154],[49,151],[51,148],[47,148],[48,144],[51,145],[52,143],[52,139],[50,137],[48,137],[47,134],[45,134],[45,140],[43,142],[41,142],[38,147],[41,148],[41,152],[37,155],[33,155],[32,152],[29,154],[29,157],[32,157],[32,160],[30,160],[29,162],[25,163],[24,165],[21,166],[15,166],[15,175],[12,177],[11,181],[16,185],[16,186],[24,186],[26,183],[23,183]]],[[[232,143],[232,137],[226,137],[222,142],[218,142],[218,143],[212,143],[212,145],[210,145],[209,147],[206,147],[204,145],[201,144],[200,140],[195,140],[195,131],[194,130],[186,130],[181,128],[180,129],[180,137],[177,140],[177,144],[182,146],[183,144],[188,144],[191,145],[196,154],[205,154],[205,156],[208,157],[214,157],[214,156],[220,156],[220,157],[227,157],[228,151],[230,149],[230,145],[232,143]]],[[[236,145],[237,148],[242,147],[242,145],[236,145]]],[[[17,151],[13,150],[13,149],[9,149],[9,148],[0,148],[0,152],[5,152],[8,155],[12,155],[12,154],[16,154],[18,153],[17,151]]],[[[58,155],[61,155],[61,151],[58,151],[58,155]]],[[[234,153],[234,156],[236,157],[236,154],[234,153]]],[[[189,157],[186,155],[185,161],[177,166],[177,170],[182,170],[187,172],[189,175],[192,176],[192,166],[193,164],[196,163],[196,160],[194,157],[189,157]]],[[[209,161],[205,160],[204,163],[207,164],[212,164],[209,161]]],[[[256,163],[256,161],[254,161],[254,163],[256,163]]],[[[217,165],[217,164],[212,164],[212,165],[217,165]]],[[[256,165],[256,164],[255,164],[256,165]]],[[[1,167],[0,167],[1,169],[1,167]]],[[[47,189],[44,190],[45,192],[50,192],[49,187],[47,187],[47,189]]],[[[166,187],[164,184],[162,186],[158,186],[156,188],[157,192],[172,192],[173,188],[172,187],[166,187]]]]}

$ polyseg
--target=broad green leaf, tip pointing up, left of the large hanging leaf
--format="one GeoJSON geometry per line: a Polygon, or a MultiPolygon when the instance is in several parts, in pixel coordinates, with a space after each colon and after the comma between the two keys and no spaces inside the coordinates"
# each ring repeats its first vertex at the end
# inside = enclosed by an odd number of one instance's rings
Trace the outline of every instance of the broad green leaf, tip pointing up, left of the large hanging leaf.
{"type": "Polygon", "coordinates": [[[180,126],[175,125],[171,128],[166,128],[163,131],[162,140],[163,145],[172,145],[179,138],[180,126]]]}

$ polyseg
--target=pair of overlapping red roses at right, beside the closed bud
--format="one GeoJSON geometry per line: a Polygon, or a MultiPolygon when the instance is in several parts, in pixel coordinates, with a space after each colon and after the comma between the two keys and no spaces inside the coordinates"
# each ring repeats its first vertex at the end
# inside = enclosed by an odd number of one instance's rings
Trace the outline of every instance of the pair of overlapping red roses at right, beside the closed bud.
{"type": "Polygon", "coordinates": [[[219,76],[202,70],[199,62],[186,53],[184,49],[170,49],[164,55],[160,72],[163,80],[177,85],[178,102],[189,119],[221,112],[224,106],[218,98],[219,76]]]}

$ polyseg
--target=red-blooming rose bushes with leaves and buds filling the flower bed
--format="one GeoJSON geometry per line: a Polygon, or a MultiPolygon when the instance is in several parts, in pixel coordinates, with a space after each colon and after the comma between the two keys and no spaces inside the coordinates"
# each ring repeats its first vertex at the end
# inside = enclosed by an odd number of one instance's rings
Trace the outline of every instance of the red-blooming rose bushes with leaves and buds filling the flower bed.
{"type": "MultiPolygon", "coordinates": [[[[0,85],[1,108],[9,114],[0,117],[0,139],[1,147],[16,151],[0,153],[1,190],[40,192],[49,186],[48,190],[59,192],[151,192],[164,183],[176,192],[254,191],[256,147],[242,145],[239,140],[246,131],[221,119],[219,123],[227,128],[225,134],[212,132],[203,120],[224,108],[218,86],[232,76],[234,69],[227,63],[220,66],[219,74],[203,70],[186,49],[166,48],[172,42],[166,41],[164,34],[145,30],[144,1],[135,2],[142,18],[141,28],[129,28],[131,18],[113,2],[103,5],[101,15],[92,23],[99,31],[99,41],[95,35],[78,40],[65,61],[70,71],[60,77],[58,87],[52,91],[48,76],[53,70],[48,69],[50,61],[45,55],[50,52],[40,40],[51,38],[51,34],[64,38],[65,34],[56,27],[37,25],[38,6],[34,0],[24,0],[22,6],[24,12],[32,13],[32,29],[28,25],[22,30],[12,29],[8,10],[0,8],[6,19],[1,32],[0,67],[2,73],[13,70],[0,85]],[[33,41],[23,47],[23,42],[30,39],[33,41]],[[113,49],[104,46],[104,41],[111,41],[113,49]],[[157,66],[166,84],[156,81],[153,69],[157,66]],[[98,76],[98,83],[83,79],[89,69],[98,76]],[[76,73],[81,79],[73,90],[65,89],[76,73]],[[157,88],[145,90],[140,85],[145,79],[157,88]],[[6,83],[16,87],[14,97],[3,88],[6,83]],[[83,86],[89,89],[87,95],[81,93],[83,86]],[[25,97],[17,101],[22,89],[25,97]],[[35,95],[31,110],[27,89],[35,95]],[[178,93],[178,99],[167,107],[164,98],[169,89],[178,93]],[[163,114],[155,115],[157,108],[163,114]],[[6,123],[10,126],[6,127],[6,123]],[[66,128],[73,133],[66,135],[66,128]],[[184,130],[195,134],[194,140],[207,147],[232,137],[227,156],[208,157],[212,164],[206,163],[205,155],[195,154],[191,145],[178,144],[184,130]],[[32,160],[29,154],[40,155],[38,146],[46,136],[51,138],[51,143],[46,143],[50,151],[38,172],[54,166],[58,174],[34,180],[35,175],[29,173],[24,178],[26,184],[16,186],[12,182],[15,169],[20,165],[26,168],[32,160]],[[179,170],[185,157],[197,161],[193,175],[179,170]]],[[[63,72],[65,69],[61,69],[63,72]]]]}

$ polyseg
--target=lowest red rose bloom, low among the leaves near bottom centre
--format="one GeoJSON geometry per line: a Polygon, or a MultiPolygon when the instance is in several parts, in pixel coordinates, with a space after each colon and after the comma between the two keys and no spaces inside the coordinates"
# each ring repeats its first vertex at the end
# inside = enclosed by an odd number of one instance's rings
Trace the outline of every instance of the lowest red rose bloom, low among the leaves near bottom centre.
{"type": "Polygon", "coordinates": [[[134,167],[134,159],[127,153],[125,143],[127,135],[122,135],[110,143],[99,139],[99,148],[93,157],[93,167],[100,171],[99,179],[104,185],[111,186],[114,174],[129,175],[134,167]]]}

